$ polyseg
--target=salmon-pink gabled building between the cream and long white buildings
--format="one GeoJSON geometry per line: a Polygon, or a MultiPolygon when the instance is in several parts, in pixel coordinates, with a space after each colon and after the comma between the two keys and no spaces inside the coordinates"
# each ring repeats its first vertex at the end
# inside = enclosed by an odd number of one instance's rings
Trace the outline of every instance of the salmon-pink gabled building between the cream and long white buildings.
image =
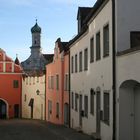
{"type": "Polygon", "coordinates": [[[53,62],[46,66],[46,120],[69,126],[69,50],[57,39],[53,62]]]}

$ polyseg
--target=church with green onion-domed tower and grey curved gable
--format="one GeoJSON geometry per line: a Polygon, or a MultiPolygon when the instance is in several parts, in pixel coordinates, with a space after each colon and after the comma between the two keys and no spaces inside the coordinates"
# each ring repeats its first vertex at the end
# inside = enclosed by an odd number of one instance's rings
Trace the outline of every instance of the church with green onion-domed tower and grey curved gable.
{"type": "Polygon", "coordinates": [[[45,65],[52,61],[52,55],[42,54],[41,49],[41,28],[37,24],[31,28],[32,46],[31,55],[21,63],[23,70],[27,74],[40,73],[45,71],[45,65]]]}

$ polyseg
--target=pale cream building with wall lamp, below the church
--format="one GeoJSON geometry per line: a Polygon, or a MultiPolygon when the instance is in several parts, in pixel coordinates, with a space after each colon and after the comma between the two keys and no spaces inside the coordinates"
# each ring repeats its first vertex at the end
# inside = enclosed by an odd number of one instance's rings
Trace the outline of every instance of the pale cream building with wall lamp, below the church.
{"type": "Polygon", "coordinates": [[[45,120],[45,74],[22,79],[22,118],[45,120]]]}

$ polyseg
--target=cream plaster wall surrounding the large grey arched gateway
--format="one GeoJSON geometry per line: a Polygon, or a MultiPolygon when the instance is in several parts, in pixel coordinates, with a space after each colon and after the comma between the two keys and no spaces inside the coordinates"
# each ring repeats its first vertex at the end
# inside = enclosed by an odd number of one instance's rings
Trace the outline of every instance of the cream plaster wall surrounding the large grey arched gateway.
{"type": "MultiPolygon", "coordinates": [[[[127,80],[133,80],[140,83],[140,51],[131,52],[117,57],[117,139],[119,140],[119,101],[120,101],[120,86],[127,80]]],[[[130,92],[128,86],[128,93],[130,92]]],[[[127,93],[127,94],[128,94],[127,93]]],[[[121,109],[122,111],[122,109],[121,109]]]]}

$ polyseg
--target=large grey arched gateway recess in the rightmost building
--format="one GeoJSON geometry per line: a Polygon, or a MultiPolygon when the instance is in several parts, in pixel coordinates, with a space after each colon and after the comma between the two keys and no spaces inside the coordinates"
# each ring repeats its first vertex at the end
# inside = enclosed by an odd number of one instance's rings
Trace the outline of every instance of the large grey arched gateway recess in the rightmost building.
{"type": "Polygon", "coordinates": [[[119,88],[119,140],[140,139],[140,83],[124,81],[119,88]]]}

